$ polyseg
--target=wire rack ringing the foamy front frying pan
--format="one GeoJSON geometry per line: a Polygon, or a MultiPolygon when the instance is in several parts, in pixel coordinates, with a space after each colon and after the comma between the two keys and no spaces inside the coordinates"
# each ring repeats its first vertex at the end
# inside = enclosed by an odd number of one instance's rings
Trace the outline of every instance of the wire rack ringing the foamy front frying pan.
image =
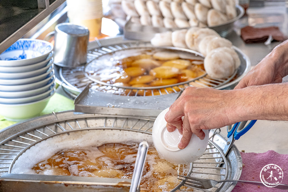
{"type": "MultiPolygon", "coordinates": [[[[152,127],[155,120],[154,118],[128,117],[119,115],[99,115],[97,117],[91,116],[77,119],[71,118],[58,120],[55,113],[54,115],[55,121],[23,130],[0,143],[0,176],[3,173],[10,173],[15,161],[27,149],[52,136],[77,130],[79,131],[80,129],[115,129],[152,134],[152,127]]],[[[226,179],[228,176],[227,159],[225,158],[225,155],[221,149],[212,140],[209,140],[209,145],[207,146],[205,153],[197,161],[190,164],[189,171],[185,173],[177,172],[177,174],[214,179],[215,177],[213,176],[216,175],[219,180],[226,179]],[[219,159],[221,160],[217,162],[219,159]]],[[[211,189],[210,191],[218,191],[222,184],[211,189]]],[[[189,186],[189,183],[179,180],[179,184],[171,192],[191,191],[191,189],[195,190],[197,188],[191,187],[189,186]]],[[[197,190],[207,191],[203,189],[197,190]]]]}

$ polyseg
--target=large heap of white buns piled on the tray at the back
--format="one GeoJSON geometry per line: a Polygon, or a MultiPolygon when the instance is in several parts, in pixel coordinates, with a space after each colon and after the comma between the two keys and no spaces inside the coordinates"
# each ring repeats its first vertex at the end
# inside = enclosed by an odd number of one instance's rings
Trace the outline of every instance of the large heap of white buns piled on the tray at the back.
{"type": "Polygon", "coordinates": [[[237,16],[235,0],[110,0],[110,7],[115,17],[165,28],[215,26],[237,16]]]}

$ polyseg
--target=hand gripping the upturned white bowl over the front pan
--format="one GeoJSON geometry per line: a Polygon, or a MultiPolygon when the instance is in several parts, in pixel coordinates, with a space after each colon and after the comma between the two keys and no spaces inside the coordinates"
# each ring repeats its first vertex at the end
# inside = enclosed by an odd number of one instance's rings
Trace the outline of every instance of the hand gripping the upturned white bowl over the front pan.
{"type": "Polygon", "coordinates": [[[196,87],[184,90],[165,115],[167,130],[173,132],[177,128],[183,135],[179,149],[184,149],[189,144],[192,133],[204,139],[202,129],[221,128],[236,122],[228,118],[228,115],[235,114],[233,92],[235,91],[196,87]]]}

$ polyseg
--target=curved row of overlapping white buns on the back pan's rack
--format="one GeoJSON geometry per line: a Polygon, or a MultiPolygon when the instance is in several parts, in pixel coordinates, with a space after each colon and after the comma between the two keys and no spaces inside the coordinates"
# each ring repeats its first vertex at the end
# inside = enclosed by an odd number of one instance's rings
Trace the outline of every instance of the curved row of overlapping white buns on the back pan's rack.
{"type": "Polygon", "coordinates": [[[220,37],[210,28],[191,27],[157,33],[151,39],[153,46],[174,46],[200,52],[204,69],[210,77],[225,79],[240,66],[240,58],[232,48],[232,42],[220,37]]]}

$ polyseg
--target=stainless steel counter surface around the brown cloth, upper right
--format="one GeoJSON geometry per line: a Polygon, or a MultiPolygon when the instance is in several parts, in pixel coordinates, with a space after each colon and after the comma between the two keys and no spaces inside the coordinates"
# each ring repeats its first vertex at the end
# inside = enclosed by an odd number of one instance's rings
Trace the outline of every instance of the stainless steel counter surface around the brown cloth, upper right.
{"type": "Polygon", "coordinates": [[[255,27],[278,26],[284,35],[288,35],[288,11],[285,1],[267,2],[263,7],[249,7],[247,14],[235,22],[234,32],[226,37],[232,41],[233,45],[247,54],[251,60],[251,65],[255,66],[279,42],[272,42],[270,45],[244,43],[240,37],[240,30],[247,25],[255,27]]]}

